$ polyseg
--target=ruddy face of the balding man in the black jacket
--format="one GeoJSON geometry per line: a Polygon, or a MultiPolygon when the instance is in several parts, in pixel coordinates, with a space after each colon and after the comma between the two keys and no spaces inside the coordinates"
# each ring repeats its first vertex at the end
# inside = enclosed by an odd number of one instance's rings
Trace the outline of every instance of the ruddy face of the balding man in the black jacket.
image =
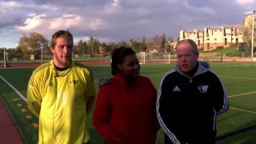
{"type": "Polygon", "coordinates": [[[181,43],[176,50],[179,69],[188,73],[194,69],[198,62],[198,53],[193,52],[189,43],[181,43]]]}

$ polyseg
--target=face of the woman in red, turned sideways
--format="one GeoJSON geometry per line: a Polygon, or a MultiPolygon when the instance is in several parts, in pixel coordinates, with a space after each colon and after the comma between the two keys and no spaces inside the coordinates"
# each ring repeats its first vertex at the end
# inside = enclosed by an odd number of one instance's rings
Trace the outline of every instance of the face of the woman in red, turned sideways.
{"type": "Polygon", "coordinates": [[[139,75],[139,63],[135,54],[129,54],[124,59],[122,64],[118,64],[118,69],[122,76],[126,78],[135,78],[139,75]]]}

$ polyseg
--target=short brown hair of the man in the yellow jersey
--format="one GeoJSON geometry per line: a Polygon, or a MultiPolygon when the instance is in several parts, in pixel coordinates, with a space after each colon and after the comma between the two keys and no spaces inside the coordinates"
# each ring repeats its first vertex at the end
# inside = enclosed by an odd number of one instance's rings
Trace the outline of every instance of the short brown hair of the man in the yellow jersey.
{"type": "Polygon", "coordinates": [[[58,38],[71,38],[73,41],[73,35],[69,32],[69,30],[58,30],[51,37],[50,46],[54,47],[56,45],[56,41],[58,38]]]}

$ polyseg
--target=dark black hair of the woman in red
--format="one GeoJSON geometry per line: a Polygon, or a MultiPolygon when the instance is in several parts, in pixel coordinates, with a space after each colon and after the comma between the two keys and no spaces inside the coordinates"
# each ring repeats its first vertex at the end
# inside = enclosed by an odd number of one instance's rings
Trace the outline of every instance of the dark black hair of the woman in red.
{"type": "Polygon", "coordinates": [[[135,54],[134,50],[130,47],[121,46],[113,50],[111,57],[111,74],[114,75],[119,71],[118,64],[122,64],[124,58],[130,54],[135,54]]]}

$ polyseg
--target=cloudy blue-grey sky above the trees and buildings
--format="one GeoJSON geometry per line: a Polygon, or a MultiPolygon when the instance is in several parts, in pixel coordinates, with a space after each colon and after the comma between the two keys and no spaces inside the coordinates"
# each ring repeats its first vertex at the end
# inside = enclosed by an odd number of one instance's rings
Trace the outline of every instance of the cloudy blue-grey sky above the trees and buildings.
{"type": "Polygon", "coordinates": [[[37,32],[70,30],[74,42],[178,38],[180,30],[242,25],[256,0],[0,0],[0,47],[37,32]]]}

